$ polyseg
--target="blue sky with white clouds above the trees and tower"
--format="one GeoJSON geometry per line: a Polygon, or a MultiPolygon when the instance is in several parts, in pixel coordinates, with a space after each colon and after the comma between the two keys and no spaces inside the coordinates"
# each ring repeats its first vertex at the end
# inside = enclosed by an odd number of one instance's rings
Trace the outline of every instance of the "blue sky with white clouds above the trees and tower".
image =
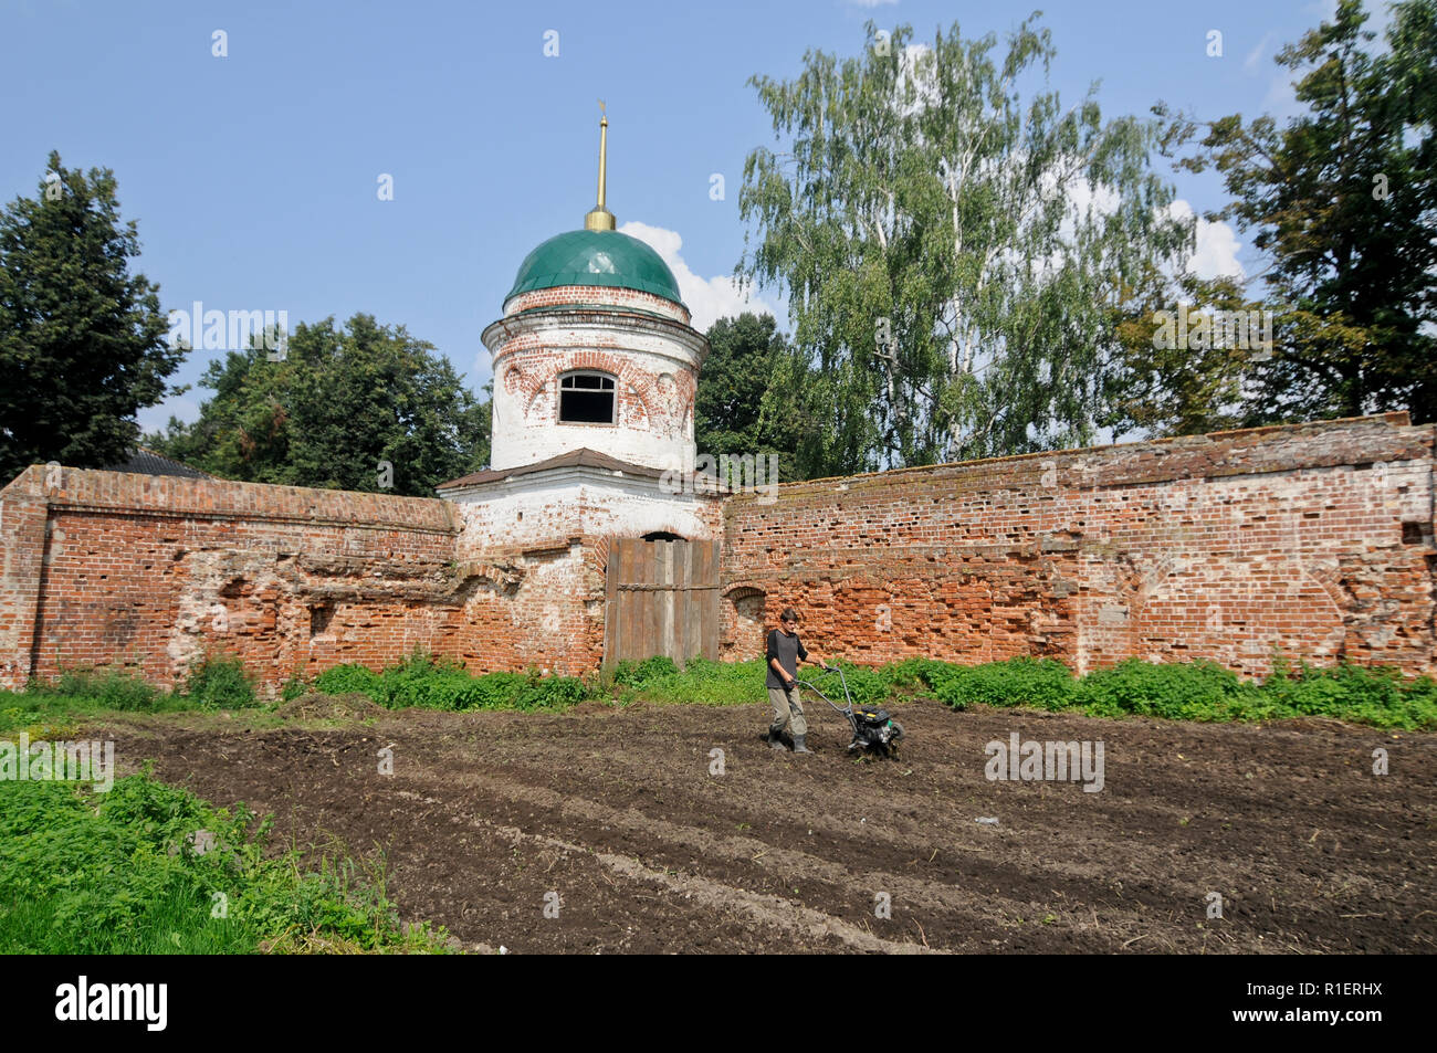
{"type": "MultiPolygon", "coordinates": [[[[1375,7],[1369,4],[1369,7],[1375,7]]],[[[1157,99],[1204,116],[1292,112],[1273,53],[1331,0],[1043,6],[1065,99],[1101,80],[1105,115],[1157,99]],[[1207,34],[1223,33],[1209,57],[1207,34]]],[[[598,99],[609,112],[609,208],[680,276],[696,325],[737,309],[743,161],[775,142],[746,80],[792,78],[808,49],[851,55],[864,23],[923,40],[1010,30],[1029,3],[270,3],[0,0],[6,129],[0,195],[34,195],[46,157],[108,167],[138,220],[139,269],[165,310],[287,310],[290,325],[364,310],[430,340],[479,392],[480,343],[525,254],[593,205],[598,99]],[[227,56],[214,56],[214,33],[227,56]],[[546,56],[546,33],[558,56],[546,56]],[[549,37],[552,40],[553,37],[549,37]],[[710,198],[710,177],[726,198],[710,198]],[[394,200],[381,201],[381,174],[394,200]]],[[[552,50],[552,47],[550,47],[552,50]]],[[[1211,177],[1171,174],[1196,211],[1211,177]]],[[[1252,269],[1234,231],[1207,266],[1252,269]]],[[[782,305],[773,290],[760,306],[782,305]]],[[[783,320],[783,319],[780,319],[783,320]]],[[[174,378],[194,384],[194,352],[174,378]]],[[[193,388],[144,411],[193,419],[193,388]]]]}

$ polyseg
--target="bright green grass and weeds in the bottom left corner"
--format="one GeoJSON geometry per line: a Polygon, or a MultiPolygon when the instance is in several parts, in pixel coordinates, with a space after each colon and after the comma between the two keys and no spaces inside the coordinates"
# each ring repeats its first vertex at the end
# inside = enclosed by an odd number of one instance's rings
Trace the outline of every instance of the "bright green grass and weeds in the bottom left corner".
{"type": "Polygon", "coordinates": [[[444,951],[444,937],[404,931],[381,863],[276,855],[267,822],[148,771],[109,793],[0,781],[0,954],[444,951]]]}

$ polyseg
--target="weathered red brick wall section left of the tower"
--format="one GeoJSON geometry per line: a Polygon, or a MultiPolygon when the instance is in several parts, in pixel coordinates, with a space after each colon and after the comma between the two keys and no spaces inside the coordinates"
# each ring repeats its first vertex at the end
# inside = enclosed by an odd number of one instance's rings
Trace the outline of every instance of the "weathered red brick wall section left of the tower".
{"type": "Polygon", "coordinates": [[[37,465],[0,493],[0,520],[7,685],[83,665],[171,685],[217,651],[272,691],[450,654],[466,623],[447,501],[37,465]]]}

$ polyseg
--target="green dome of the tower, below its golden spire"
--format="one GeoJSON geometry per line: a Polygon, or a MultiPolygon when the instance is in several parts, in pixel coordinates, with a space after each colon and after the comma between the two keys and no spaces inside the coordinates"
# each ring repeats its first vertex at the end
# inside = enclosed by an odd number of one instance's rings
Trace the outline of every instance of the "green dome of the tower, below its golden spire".
{"type": "Polygon", "coordinates": [[[637,289],[684,306],[674,272],[660,254],[616,230],[570,230],[549,238],[519,264],[514,287],[504,302],[558,286],[637,289]]]}

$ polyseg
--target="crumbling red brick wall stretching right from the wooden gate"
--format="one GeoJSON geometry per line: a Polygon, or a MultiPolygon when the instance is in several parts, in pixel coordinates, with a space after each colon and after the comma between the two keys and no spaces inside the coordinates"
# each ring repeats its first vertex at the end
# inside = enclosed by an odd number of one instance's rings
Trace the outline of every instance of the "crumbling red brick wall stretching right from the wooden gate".
{"type": "Polygon", "coordinates": [[[785,606],[879,664],[1434,667],[1433,427],[1404,414],[793,483],[726,504],[723,648],[785,606]]]}

